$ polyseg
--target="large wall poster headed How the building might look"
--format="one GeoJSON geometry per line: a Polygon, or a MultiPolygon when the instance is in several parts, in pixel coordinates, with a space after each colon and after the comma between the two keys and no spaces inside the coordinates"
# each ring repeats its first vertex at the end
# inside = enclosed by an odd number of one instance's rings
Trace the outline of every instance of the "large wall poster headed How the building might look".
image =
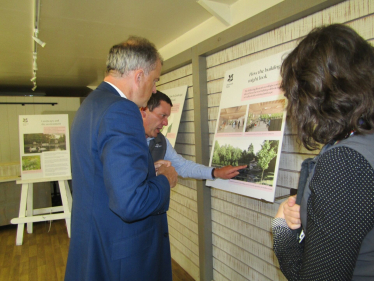
{"type": "Polygon", "coordinates": [[[287,52],[225,73],[210,166],[247,167],[230,180],[206,185],[274,202],[286,120],[280,67],[287,52]]]}

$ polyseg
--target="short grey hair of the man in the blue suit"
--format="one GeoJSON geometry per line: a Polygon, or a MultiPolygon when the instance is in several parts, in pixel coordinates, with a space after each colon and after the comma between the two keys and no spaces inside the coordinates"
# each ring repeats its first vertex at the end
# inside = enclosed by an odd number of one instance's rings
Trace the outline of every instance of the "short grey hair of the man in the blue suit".
{"type": "Polygon", "coordinates": [[[143,69],[146,75],[156,68],[157,61],[163,63],[155,45],[145,38],[130,36],[125,42],[114,45],[106,61],[106,72],[118,71],[121,75],[143,69]]]}

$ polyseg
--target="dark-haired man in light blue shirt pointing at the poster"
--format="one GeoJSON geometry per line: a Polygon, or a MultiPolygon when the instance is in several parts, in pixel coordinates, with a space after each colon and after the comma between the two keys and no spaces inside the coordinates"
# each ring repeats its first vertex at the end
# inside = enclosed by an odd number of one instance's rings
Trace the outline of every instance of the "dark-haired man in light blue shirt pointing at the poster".
{"type": "Polygon", "coordinates": [[[230,165],[222,168],[212,168],[184,159],[179,155],[169,140],[160,133],[162,128],[168,125],[168,117],[172,106],[170,98],[157,91],[149,99],[147,107],[141,108],[144,130],[153,161],[168,160],[178,175],[195,179],[231,179],[239,174],[238,170],[246,167],[246,165],[237,167],[230,165]]]}

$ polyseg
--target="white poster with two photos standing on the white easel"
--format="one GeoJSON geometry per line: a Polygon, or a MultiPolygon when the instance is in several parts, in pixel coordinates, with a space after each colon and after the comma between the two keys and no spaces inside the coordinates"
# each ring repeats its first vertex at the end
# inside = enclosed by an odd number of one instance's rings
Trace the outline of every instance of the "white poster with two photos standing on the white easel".
{"type": "Polygon", "coordinates": [[[67,114],[20,115],[22,180],[71,176],[67,114]]]}

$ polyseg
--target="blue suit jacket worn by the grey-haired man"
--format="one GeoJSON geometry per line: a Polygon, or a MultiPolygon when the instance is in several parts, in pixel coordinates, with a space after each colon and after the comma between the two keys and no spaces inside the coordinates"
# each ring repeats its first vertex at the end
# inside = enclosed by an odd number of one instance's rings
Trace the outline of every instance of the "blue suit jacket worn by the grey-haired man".
{"type": "Polygon", "coordinates": [[[71,129],[73,207],[66,281],[172,280],[166,211],[135,103],[101,83],[71,129]]]}

